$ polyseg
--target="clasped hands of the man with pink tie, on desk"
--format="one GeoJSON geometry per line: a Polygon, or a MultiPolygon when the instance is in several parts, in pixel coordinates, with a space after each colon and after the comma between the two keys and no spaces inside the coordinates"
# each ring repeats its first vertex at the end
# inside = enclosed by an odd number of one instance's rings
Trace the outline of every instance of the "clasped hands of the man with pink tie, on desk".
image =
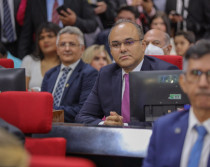
{"type": "Polygon", "coordinates": [[[118,115],[116,112],[111,111],[110,116],[106,117],[104,125],[123,126],[123,117],[118,115]]]}

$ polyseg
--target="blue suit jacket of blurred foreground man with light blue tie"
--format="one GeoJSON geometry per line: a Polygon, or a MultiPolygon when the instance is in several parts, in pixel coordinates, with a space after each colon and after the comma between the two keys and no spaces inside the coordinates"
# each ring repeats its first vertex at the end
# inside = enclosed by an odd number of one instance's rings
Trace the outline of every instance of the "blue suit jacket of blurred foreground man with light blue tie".
{"type": "MultiPolygon", "coordinates": [[[[143,167],[179,167],[189,110],[160,117],[155,123],[143,167]]],[[[210,166],[210,156],[208,165],[210,166]]]]}

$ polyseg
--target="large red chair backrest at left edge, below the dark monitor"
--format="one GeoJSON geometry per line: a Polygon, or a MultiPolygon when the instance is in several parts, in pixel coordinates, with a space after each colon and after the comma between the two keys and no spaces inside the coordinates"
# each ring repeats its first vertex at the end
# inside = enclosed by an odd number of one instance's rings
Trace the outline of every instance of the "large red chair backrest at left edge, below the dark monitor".
{"type": "Polygon", "coordinates": [[[0,117],[23,133],[48,133],[52,128],[53,97],[48,92],[0,93],[0,117]]]}

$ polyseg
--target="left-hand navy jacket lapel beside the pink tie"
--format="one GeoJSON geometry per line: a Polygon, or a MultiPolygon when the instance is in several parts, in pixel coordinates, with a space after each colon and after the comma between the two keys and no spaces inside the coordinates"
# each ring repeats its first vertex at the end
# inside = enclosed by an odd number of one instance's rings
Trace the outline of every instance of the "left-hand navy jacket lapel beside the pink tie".
{"type": "Polygon", "coordinates": [[[121,99],[122,99],[122,69],[117,69],[112,76],[112,101],[114,109],[121,115],[121,99]]]}

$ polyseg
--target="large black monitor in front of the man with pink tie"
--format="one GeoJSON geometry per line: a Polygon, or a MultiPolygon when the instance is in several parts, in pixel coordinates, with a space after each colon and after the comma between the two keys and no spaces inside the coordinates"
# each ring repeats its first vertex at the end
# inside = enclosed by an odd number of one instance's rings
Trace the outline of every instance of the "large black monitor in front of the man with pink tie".
{"type": "Polygon", "coordinates": [[[153,122],[189,104],[179,86],[180,70],[129,73],[131,121],[153,122]]]}

